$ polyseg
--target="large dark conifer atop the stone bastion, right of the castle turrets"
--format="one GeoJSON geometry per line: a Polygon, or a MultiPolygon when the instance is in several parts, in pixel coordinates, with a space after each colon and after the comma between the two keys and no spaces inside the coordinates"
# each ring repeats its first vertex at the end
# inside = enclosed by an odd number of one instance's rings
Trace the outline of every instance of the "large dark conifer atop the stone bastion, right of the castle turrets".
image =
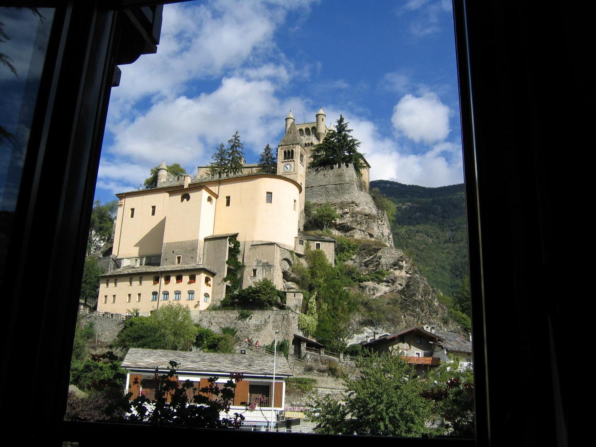
{"type": "Polygon", "coordinates": [[[320,144],[313,147],[311,151],[312,167],[327,167],[334,164],[351,163],[358,175],[362,175],[362,154],[358,147],[361,144],[350,135],[352,129],[347,128],[348,123],[344,122],[343,115],[337,120],[335,131],[328,132],[320,144]]]}

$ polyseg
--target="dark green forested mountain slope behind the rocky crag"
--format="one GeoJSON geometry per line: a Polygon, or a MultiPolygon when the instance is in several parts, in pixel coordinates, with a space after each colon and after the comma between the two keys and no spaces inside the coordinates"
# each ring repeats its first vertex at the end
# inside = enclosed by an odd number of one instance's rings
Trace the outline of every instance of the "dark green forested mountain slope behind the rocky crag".
{"type": "Polygon", "coordinates": [[[454,296],[468,274],[464,184],[426,188],[376,180],[370,188],[396,204],[395,246],[418,263],[433,288],[454,296]]]}

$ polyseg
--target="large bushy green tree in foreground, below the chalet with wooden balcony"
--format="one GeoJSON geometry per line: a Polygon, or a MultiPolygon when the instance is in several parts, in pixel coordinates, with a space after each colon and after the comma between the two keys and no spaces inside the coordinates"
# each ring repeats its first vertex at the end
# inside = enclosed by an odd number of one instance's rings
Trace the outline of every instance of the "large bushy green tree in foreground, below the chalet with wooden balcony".
{"type": "Polygon", "coordinates": [[[345,403],[330,396],[315,399],[315,433],[421,436],[433,405],[421,396],[423,383],[399,356],[360,357],[358,378],[346,378],[345,403]]]}

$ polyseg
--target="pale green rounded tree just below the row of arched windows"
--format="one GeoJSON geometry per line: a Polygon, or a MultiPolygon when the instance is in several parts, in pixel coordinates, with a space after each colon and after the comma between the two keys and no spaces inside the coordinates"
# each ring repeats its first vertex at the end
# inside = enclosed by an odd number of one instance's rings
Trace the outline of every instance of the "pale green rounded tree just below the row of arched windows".
{"type": "Polygon", "coordinates": [[[188,306],[170,303],[153,311],[149,318],[164,335],[166,349],[190,350],[197,330],[194,327],[188,306]]]}

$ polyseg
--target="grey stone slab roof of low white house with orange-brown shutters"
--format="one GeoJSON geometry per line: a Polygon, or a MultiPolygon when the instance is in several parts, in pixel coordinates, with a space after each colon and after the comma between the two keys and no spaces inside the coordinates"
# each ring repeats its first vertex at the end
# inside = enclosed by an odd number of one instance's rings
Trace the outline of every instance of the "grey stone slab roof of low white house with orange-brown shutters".
{"type": "MultiPolygon", "coordinates": [[[[122,362],[123,368],[168,370],[169,362],[178,362],[178,371],[196,371],[220,376],[229,373],[247,375],[272,375],[273,359],[269,354],[221,354],[215,352],[187,352],[166,349],[142,349],[131,347],[122,362]]],[[[287,359],[277,356],[275,375],[290,376],[292,372],[287,359]]]]}

